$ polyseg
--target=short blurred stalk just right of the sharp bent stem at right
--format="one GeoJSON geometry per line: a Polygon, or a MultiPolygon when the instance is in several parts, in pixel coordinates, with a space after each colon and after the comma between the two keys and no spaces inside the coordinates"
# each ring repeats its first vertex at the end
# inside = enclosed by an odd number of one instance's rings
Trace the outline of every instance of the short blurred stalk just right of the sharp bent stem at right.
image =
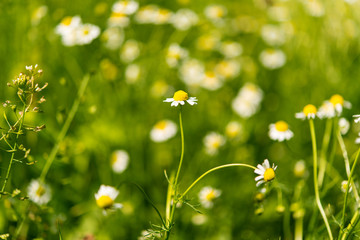
{"type": "Polygon", "coordinates": [[[319,186],[321,187],[324,181],[325,176],[325,170],[326,170],[326,164],[327,164],[327,158],[326,153],[329,148],[329,142],[330,142],[330,136],[331,136],[331,130],[332,130],[332,123],[333,119],[328,118],[326,120],[326,126],[325,126],[325,133],[323,137],[323,142],[321,145],[321,153],[320,153],[320,164],[319,164],[319,186]]]}

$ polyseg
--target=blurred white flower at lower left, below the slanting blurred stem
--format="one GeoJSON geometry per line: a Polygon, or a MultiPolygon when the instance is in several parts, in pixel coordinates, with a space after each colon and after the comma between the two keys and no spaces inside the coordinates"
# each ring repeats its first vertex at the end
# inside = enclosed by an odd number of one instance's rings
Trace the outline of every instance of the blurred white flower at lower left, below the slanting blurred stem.
{"type": "Polygon", "coordinates": [[[28,186],[28,195],[31,201],[39,205],[47,204],[51,199],[50,187],[40,180],[31,180],[28,186]]]}

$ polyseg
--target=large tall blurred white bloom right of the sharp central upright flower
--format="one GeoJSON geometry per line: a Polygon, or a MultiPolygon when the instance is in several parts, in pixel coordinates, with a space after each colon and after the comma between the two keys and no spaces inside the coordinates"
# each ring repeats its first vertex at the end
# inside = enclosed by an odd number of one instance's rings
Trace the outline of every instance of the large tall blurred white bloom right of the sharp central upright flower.
{"type": "Polygon", "coordinates": [[[248,118],[259,110],[262,99],[262,90],[255,84],[246,83],[233,100],[232,108],[239,116],[248,118]]]}

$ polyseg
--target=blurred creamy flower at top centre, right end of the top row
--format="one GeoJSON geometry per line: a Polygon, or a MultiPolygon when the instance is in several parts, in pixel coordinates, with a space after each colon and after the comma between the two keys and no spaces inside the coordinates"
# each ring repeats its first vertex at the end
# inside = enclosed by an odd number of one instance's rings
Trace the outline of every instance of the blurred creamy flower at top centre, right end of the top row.
{"type": "Polygon", "coordinates": [[[171,16],[171,24],[178,30],[186,31],[192,26],[196,25],[199,21],[195,12],[190,9],[179,9],[171,16]]]}

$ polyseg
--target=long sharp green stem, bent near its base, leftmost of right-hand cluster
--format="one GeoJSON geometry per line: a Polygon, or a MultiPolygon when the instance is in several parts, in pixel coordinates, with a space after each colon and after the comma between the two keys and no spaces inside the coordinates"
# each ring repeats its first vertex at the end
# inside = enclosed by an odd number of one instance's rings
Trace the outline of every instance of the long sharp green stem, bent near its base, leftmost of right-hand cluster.
{"type": "Polygon", "coordinates": [[[329,234],[329,239],[332,240],[333,236],[331,233],[331,228],[328,222],[328,219],[326,217],[325,211],[323,206],[321,205],[321,201],[320,201],[320,195],[319,195],[319,184],[318,184],[318,176],[317,176],[317,163],[318,163],[318,159],[317,159],[317,148],[316,148],[316,137],[315,137],[315,127],[314,127],[314,120],[313,119],[309,119],[309,125],[310,125],[310,133],[311,133],[311,141],[312,141],[312,148],[313,148],[313,159],[314,159],[314,163],[313,163],[313,169],[314,169],[314,190],[315,190],[315,200],[316,200],[316,204],[319,208],[320,214],[324,220],[326,229],[328,231],[329,234]]]}

